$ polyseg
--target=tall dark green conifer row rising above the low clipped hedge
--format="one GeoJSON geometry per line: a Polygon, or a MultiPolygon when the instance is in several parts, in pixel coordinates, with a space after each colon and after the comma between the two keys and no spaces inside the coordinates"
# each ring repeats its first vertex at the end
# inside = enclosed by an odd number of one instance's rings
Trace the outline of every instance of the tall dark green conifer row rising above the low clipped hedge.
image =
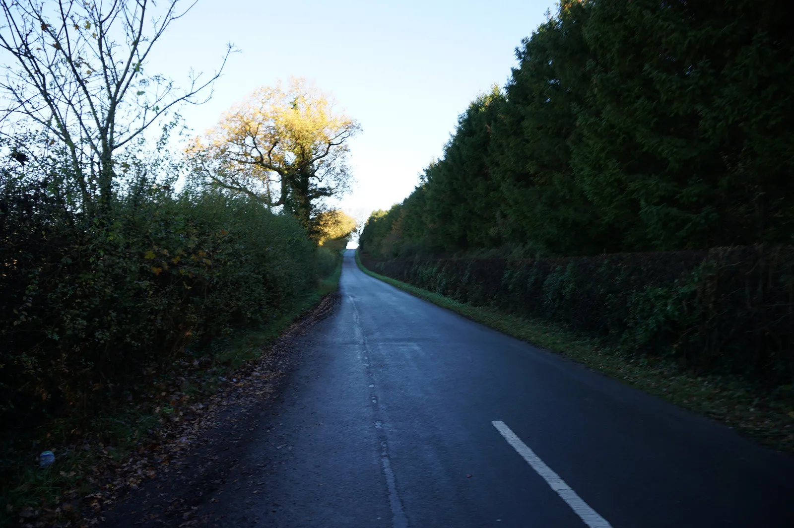
{"type": "Polygon", "coordinates": [[[461,114],[414,192],[373,214],[362,247],[585,255],[792,243],[787,6],[561,2],[516,49],[507,85],[461,114]]]}

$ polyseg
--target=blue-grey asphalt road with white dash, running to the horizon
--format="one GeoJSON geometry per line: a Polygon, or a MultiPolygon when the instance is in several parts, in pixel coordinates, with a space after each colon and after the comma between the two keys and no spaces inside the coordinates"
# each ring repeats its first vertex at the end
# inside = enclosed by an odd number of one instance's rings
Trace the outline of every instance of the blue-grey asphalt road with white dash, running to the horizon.
{"type": "Polygon", "coordinates": [[[794,461],[345,256],[219,526],[794,526],[794,461]],[[254,491],[251,491],[251,490],[254,491]]]}

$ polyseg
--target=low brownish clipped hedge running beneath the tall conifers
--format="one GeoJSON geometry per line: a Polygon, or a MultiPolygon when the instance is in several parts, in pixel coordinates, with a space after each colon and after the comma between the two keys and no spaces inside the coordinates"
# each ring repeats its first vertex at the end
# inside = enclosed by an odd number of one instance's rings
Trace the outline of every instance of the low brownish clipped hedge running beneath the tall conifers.
{"type": "Polygon", "coordinates": [[[361,261],[463,303],[564,323],[629,353],[769,386],[794,380],[794,246],[361,261]]]}

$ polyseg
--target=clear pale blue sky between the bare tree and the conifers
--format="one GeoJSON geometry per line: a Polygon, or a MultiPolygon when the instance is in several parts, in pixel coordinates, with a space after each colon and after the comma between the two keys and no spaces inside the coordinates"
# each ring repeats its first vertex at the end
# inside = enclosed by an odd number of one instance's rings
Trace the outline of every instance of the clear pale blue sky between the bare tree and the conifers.
{"type": "Polygon", "coordinates": [[[340,206],[366,218],[410,194],[442,155],[457,116],[507,82],[515,48],[549,9],[549,0],[198,0],[164,33],[147,67],[185,83],[191,68],[217,69],[227,42],[241,50],[210,102],[180,110],[196,133],[279,79],[303,77],[332,94],[363,129],[350,143],[356,183],[340,206]]]}

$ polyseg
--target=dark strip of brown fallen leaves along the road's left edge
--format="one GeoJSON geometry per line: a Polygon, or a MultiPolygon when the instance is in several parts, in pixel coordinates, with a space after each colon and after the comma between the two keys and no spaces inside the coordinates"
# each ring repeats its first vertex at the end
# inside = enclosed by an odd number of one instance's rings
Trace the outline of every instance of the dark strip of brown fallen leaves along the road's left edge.
{"type": "Polygon", "coordinates": [[[295,341],[326,318],[338,293],[289,327],[256,361],[241,368],[236,383],[214,395],[200,416],[176,427],[171,444],[133,457],[106,489],[94,495],[94,515],[84,526],[199,526],[214,516],[207,496],[239,470],[242,449],[260,418],[278,399],[294,368],[295,341]],[[141,480],[145,478],[146,480],[141,480]]]}

